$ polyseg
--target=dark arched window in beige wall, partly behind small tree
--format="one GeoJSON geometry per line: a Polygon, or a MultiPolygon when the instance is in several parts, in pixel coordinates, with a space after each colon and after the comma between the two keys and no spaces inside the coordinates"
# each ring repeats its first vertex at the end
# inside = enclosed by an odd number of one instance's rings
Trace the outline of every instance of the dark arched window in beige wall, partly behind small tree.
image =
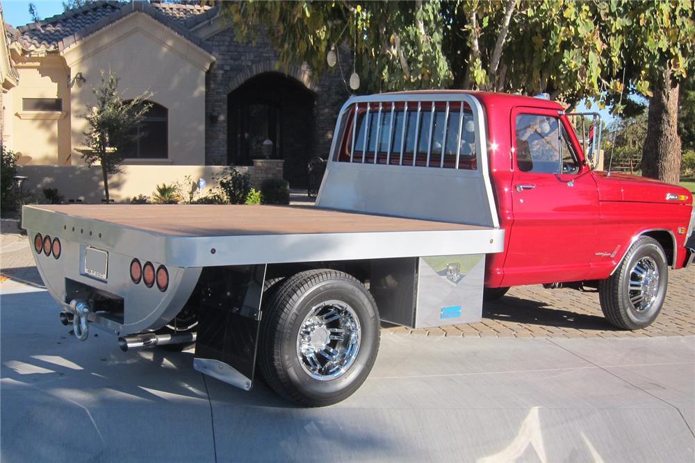
{"type": "Polygon", "coordinates": [[[166,159],[169,155],[169,110],[154,101],[145,119],[136,127],[133,142],[126,146],[126,158],[166,159]]]}

